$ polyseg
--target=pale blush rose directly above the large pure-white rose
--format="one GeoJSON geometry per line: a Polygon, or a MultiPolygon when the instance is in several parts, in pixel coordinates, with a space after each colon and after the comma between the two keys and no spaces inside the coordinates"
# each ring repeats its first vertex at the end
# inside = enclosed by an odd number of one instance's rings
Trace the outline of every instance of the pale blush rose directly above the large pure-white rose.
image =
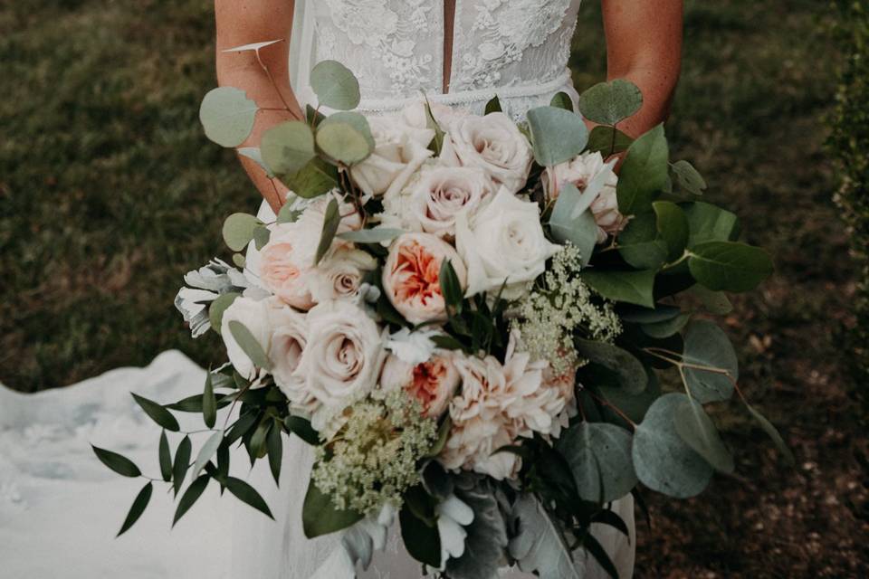
{"type": "Polygon", "coordinates": [[[455,119],[449,136],[451,149],[463,166],[482,168],[492,181],[511,193],[525,186],[531,168],[531,147],[506,114],[455,119]]]}

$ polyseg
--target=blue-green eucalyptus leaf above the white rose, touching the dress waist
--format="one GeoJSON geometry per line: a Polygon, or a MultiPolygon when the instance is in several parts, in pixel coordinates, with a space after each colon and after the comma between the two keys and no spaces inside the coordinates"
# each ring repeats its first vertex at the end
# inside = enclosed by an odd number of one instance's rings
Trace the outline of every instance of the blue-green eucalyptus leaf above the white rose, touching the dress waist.
{"type": "Polygon", "coordinates": [[[555,107],[528,111],[534,158],[541,166],[555,166],[578,156],[588,142],[588,128],[578,114],[555,107]]]}

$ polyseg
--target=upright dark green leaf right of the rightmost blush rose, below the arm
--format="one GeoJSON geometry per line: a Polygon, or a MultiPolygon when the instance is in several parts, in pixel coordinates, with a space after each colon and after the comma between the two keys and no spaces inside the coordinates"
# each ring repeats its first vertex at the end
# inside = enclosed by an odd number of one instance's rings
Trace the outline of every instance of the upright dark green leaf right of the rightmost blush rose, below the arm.
{"type": "Polygon", "coordinates": [[[616,185],[621,214],[635,215],[652,210],[654,195],[666,185],[669,156],[664,125],[648,131],[628,147],[616,185]]]}

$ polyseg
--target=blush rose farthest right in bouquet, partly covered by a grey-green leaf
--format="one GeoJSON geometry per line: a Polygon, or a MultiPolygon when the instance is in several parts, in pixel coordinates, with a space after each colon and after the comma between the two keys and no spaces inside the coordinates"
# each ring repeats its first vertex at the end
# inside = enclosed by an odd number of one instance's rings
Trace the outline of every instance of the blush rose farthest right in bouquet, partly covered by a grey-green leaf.
{"type": "Polygon", "coordinates": [[[565,183],[575,185],[580,193],[585,193],[592,181],[603,181],[600,192],[589,207],[597,223],[598,243],[606,242],[608,235],[622,231],[627,223],[625,217],[618,212],[618,176],[613,170],[615,166],[615,161],[604,162],[604,157],[599,152],[583,153],[570,161],[553,166],[542,176],[543,186],[550,198],[558,197],[559,188],[565,183]]]}

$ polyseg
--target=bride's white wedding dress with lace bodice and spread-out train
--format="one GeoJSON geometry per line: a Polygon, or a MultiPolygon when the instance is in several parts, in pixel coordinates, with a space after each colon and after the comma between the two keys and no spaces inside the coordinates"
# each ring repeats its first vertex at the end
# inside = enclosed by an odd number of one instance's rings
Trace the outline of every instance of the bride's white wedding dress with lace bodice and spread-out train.
{"type": "MultiPolygon", "coordinates": [[[[297,0],[293,86],[303,104],[314,102],[307,85],[310,68],[334,59],[357,74],[363,112],[396,111],[421,94],[482,112],[497,95],[503,108],[520,119],[528,109],[549,104],[559,91],[576,99],[567,62],[579,2],[456,0],[452,70],[444,71],[443,0],[297,0]],[[447,94],[442,94],[444,78],[449,79],[447,94]]],[[[252,42],[256,40],[265,39],[252,42]]],[[[263,206],[263,219],[270,213],[263,206]]],[[[178,331],[180,324],[179,318],[178,331]]],[[[339,536],[308,540],[302,533],[301,504],[312,457],[309,447],[294,437],[284,445],[280,489],[267,465],[247,470],[244,451],[233,461],[234,476],[263,492],[275,521],[228,493],[220,497],[211,485],[170,532],[174,504],[158,485],[136,527],[114,539],[144,481],[121,479],[106,470],[89,442],[120,451],[157,476],[158,427],[128,391],[174,402],[196,394],[204,376],[173,351],[148,368],[115,370],[62,390],[25,396],[0,385],[0,576],[343,579],[333,572],[346,557],[339,536]]],[[[202,428],[201,418],[181,418],[186,430],[202,428]]],[[[178,439],[170,436],[173,449],[178,439]]],[[[196,448],[203,442],[195,439],[196,448]]],[[[633,500],[628,496],[613,508],[625,519],[630,536],[612,527],[594,531],[626,579],[634,566],[633,500]]],[[[358,577],[420,576],[420,565],[400,548],[396,527],[386,548],[358,577]]],[[[606,577],[588,557],[585,569],[588,578],[606,577]]],[[[501,576],[532,577],[515,570],[501,576]]]]}

